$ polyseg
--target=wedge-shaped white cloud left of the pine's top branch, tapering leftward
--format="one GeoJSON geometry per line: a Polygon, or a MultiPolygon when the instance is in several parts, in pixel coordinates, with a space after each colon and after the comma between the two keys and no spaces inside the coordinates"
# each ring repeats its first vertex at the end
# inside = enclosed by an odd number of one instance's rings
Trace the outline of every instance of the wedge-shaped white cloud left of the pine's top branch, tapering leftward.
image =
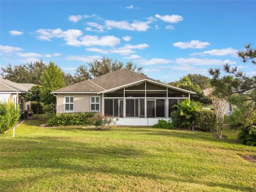
{"type": "Polygon", "coordinates": [[[237,52],[238,52],[238,50],[228,47],[226,49],[213,49],[210,51],[196,52],[196,53],[192,53],[190,55],[192,55],[192,56],[194,56],[194,55],[201,55],[201,56],[204,56],[204,55],[214,55],[214,56],[231,55],[232,57],[237,57],[237,52]]]}

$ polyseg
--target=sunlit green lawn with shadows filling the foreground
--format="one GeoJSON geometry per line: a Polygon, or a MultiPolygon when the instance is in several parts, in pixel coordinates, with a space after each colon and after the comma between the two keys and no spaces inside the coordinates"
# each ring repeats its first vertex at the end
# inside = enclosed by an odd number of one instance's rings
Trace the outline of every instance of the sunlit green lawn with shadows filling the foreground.
{"type": "MultiPolygon", "coordinates": [[[[214,133],[43,128],[0,136],[1,191],[255,191],[256,147],[214,133]]],[[[226,129],[223,134],[228,135],[226,129]]]]}

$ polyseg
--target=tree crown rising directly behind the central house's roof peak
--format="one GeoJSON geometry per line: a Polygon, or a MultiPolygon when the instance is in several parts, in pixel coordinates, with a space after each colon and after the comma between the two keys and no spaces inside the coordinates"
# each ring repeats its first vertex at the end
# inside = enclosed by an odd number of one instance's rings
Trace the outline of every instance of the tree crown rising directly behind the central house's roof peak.
{"type": "MultiPolygon", "coordinates": [[[[102,57],[100,60],[93,60],[88,63],[89,71],[93,77],[99,77],[112,71],[126,68],[137,73],[141,73],[142,67],[138,67],[132,61],[127,62],[126,66],[121,61],[113,60],[108,57],[102,57]]],[[[141,73],[142,74],[142,73],[141,73]]]]}

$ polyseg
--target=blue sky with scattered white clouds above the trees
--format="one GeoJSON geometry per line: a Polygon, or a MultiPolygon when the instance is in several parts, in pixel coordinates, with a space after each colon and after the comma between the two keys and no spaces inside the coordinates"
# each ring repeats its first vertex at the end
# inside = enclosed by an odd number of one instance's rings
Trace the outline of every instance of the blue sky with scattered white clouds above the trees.
{"type": "Polygon", "coordinates": [[[42,59],[65,72],[106,55],[132,60],[145,74],[174,81],[256,46],[253,1],[1,1],[1,67],[42,59]]]}

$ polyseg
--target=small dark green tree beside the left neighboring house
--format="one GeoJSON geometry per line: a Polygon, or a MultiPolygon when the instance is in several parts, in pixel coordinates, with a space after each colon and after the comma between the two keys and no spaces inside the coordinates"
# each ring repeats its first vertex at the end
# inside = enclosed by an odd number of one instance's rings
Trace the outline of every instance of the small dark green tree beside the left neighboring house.
{"type": "Polygon", "coordinates": [[[42,93],[42,86],[41,85],[34,85],[31,87],[30,90],[25,94],[25,101],[36,101],[37,102],[37,114],[40,106],[42,93]]]}

